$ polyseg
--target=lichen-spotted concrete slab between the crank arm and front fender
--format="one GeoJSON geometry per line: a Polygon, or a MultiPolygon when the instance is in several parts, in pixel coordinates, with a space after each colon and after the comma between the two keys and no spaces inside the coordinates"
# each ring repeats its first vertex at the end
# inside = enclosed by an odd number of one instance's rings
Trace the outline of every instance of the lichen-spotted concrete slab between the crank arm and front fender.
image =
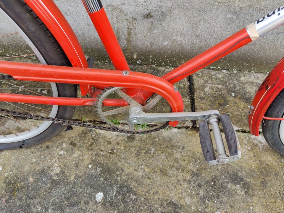
{"type": "Polygon", "coordinates": [[[227,113],[236,129],[248,130],[249,106],[265,73],[203,69],[193,74],[196,111],[227,113]]]}

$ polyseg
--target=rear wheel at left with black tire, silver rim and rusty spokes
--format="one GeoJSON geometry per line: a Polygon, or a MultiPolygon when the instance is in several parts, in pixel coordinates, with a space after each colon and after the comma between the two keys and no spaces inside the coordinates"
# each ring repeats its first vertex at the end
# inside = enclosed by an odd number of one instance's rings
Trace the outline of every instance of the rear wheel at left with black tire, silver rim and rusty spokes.
{"type": "MultiPolygon", "coordinates": [[[[71,66],[70,61],[60,45],[57,43],[54,36],[46,28],[43,22],[41,22],[37,15],[30,9],[30,7],[25,4],[24,1],[0,0],[0,15],[2,15],[3,20],[9,22],[10,25],[12,25],[12,27],[16,30],[14,33],[0,35],[0,45],[1,38],[4,39],[7,38],[7,36],[21,35],[23,40],[28,44],[28,46],[30,46],[31,50],[41,63],[71,66]]],[[[6,54],[5,56],[7,57],[0,58],[3,60],[12,58],[15,60],[13,57],[10,57],[9,54],[6,54]]],[[[55,97],[77,97],[77,85],[75,84],[35,84],[30,82],[12,82],[11,85],[11,83],[8,81],[2,81],[1,85],[0,92],[5,90],[9,93],[33,95],[39,94],[55,97]],[[14,92],[14,90],[17,92],[14,92]]],[[[75,110],[75,106],[43,106],[35,104],[25,105],[21,103],[9,102],[0,102],[0,107],[17,110],[20,112],[37,111],[43,116],[57,117],[62,119],[71,119],[75,110]]],[[[63,125],[49,121],[30,121],[22,118],[10,117],[7,114],[0,114],[0,150],[33,146],[49,140],[60,133],[63,129],[63,125]]]]}

